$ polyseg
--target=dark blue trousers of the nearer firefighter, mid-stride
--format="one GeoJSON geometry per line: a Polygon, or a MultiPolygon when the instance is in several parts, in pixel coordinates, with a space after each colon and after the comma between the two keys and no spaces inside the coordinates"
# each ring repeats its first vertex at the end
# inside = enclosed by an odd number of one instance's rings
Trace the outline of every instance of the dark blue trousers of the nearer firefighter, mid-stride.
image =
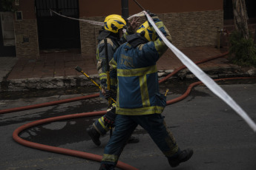
{"type": "Polygon", "coordinates": [[[126,141],[138,124],[148,132],[166,157],[171,157],[179,151],[162,115],[116,115],[115,130],[105,146],[102,164],[116,165],[126,141]]]}

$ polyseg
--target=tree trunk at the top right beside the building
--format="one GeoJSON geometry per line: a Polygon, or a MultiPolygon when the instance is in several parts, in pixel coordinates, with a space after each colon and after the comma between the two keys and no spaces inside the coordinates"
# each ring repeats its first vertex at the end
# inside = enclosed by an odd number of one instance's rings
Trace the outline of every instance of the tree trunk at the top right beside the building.
{"type": "Polygon", "coordinates": [[[234,27],[242,33],[243,38],[249,39],[248,16],[245,0],[232,0],[234,13],[234,27]]]}

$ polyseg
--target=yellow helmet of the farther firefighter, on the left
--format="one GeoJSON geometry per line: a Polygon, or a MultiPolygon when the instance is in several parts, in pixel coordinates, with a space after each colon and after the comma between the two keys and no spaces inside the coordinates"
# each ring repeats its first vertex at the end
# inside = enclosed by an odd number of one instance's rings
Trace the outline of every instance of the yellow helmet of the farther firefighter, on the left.
{"type": "Polygon", "coordinates": [[[104,21],[104,28],[112,33],[118,33],[118,30],[126,26],[126,21],[122,16],[113,14],[107,16],[104,21]]]}

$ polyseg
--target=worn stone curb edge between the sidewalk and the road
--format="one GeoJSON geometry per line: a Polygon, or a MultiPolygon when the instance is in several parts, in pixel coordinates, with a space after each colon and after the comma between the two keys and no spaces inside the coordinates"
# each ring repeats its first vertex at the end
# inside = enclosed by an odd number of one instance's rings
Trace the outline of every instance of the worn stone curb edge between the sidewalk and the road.
{"type": "MultiPolygon", "coordinates": [[[[236,78],[236,77],[253,77],[256,76],[256,68],[242,69],[241,67],[213,67],[202,69],[211,78],[236,78]]],[[[159,80],[166,75],[174,72],[170,70],[159,70],[159,80]]],[[[99,84],[98,75],[90,75],[90,77],[99,84]]],[[[197,80],[197,78],[188,70],[180,70],[176,75],[170,78],[178,80],[197,80]]],[[[29,89],[58,89],[70,88],[76,86],[95,86],[85,75],[56,77],[56,78],[27,78],[27,79],[14,79],[10,81],[1,82],[0,91],[16,91],[16,90],[29,90],[29,89]]]]}

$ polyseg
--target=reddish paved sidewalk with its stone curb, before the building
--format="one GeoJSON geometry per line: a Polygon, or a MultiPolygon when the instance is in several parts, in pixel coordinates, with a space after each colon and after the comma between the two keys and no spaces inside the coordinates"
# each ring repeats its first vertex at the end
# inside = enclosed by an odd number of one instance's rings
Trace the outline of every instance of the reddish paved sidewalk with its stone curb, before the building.
{"type": "MultiPolygon", "coordinates": [[[[201,61],[222,52],[214,47],[188,47],[180,49],[192,61],[201,61]]],[[[79,66],[90,75],[94,81],[99,82],[96,70],[96,56],[81,55],[77,52],[53,51],[45,52],[37,60],[25,58],[0,58],[1,90],[24,90],[62,88],[71,86],[93,86],[91,81],[77,72],[75,67],[79,66]],[[3,62],[5,61],[5,62],[3,62]],[[10,64],[7,64],[10,61],[10,64]],[[14,64],[13,64],[14,63],[14,64]],[[16,63],[16,64],[15,64],[16,63]],[[8,69],[9,70],[8,70],[8,69]],[[9,73],[9,74],[8,74],[9,73]]],[[[183,64],[171,50],[165,52],[157,62],[159,77],[162,78],[183,64]]],[[[227,56],[208,61],[198,65],[211,78],[255,76],[255,69],[243,70],[237,65],[230,64],[227,56]]],[[[175,75],[176,78],[194,78],[194,75],[183,70],[182,74],[175,75]]]]}

